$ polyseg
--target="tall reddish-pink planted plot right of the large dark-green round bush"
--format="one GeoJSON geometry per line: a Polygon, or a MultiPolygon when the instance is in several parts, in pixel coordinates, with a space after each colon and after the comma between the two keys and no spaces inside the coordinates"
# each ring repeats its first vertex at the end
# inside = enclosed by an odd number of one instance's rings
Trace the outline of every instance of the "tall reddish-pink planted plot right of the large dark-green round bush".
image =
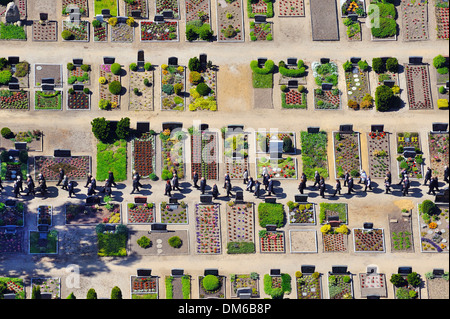
{"type": "Polygon", "coordinates": [[[405,65],[405,75],[409,109],[433,109],[428,66],[407,64],[405,65]]]}

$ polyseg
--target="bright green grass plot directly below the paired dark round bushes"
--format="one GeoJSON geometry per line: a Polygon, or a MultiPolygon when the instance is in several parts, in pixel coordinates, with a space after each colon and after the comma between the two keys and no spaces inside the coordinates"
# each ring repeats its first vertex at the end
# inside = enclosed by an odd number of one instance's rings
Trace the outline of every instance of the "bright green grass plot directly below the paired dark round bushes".
{"type": "Polygon", "coordinates": [[[97,181],[108,178],[108,172],[114,174],[116,182],[127,179],[127,142],[119,140],[113,144],[97,144],[97,181]]]}

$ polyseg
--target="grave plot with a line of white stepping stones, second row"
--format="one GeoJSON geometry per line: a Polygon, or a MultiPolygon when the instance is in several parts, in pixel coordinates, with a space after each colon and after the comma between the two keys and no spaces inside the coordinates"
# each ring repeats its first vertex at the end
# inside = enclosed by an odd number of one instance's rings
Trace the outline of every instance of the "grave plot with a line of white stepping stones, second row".
{"type": "Polygon", "coordinates": [[[366,95],[370,95],[369,73],[354,66],[350,72],[345,72],[345,82],[347,85],[347,99],[357,103],[356,109],[365,109],[361,105],[366,95]]]}

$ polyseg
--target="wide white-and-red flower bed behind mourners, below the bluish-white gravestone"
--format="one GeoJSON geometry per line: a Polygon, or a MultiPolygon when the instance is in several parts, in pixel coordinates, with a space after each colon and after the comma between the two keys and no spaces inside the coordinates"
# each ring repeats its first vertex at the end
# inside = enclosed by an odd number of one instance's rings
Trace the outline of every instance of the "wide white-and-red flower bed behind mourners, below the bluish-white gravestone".
{"type": "Polygon", "coordinates": [[[273,179],[297,179],[297,159],[292,157],[271,160],[269,157],[256,159],[256,177],[262,178],[264,168],[273,179]]]}

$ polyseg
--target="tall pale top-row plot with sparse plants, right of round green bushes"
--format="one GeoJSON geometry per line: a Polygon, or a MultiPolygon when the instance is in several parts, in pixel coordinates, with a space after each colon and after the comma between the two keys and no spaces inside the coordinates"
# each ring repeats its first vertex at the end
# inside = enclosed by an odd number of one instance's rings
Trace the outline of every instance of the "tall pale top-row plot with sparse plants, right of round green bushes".
{"type": "Polygon", "coordinates": [[[217,0],[218,42],[244,41],[242,0],[217,0]]]}

